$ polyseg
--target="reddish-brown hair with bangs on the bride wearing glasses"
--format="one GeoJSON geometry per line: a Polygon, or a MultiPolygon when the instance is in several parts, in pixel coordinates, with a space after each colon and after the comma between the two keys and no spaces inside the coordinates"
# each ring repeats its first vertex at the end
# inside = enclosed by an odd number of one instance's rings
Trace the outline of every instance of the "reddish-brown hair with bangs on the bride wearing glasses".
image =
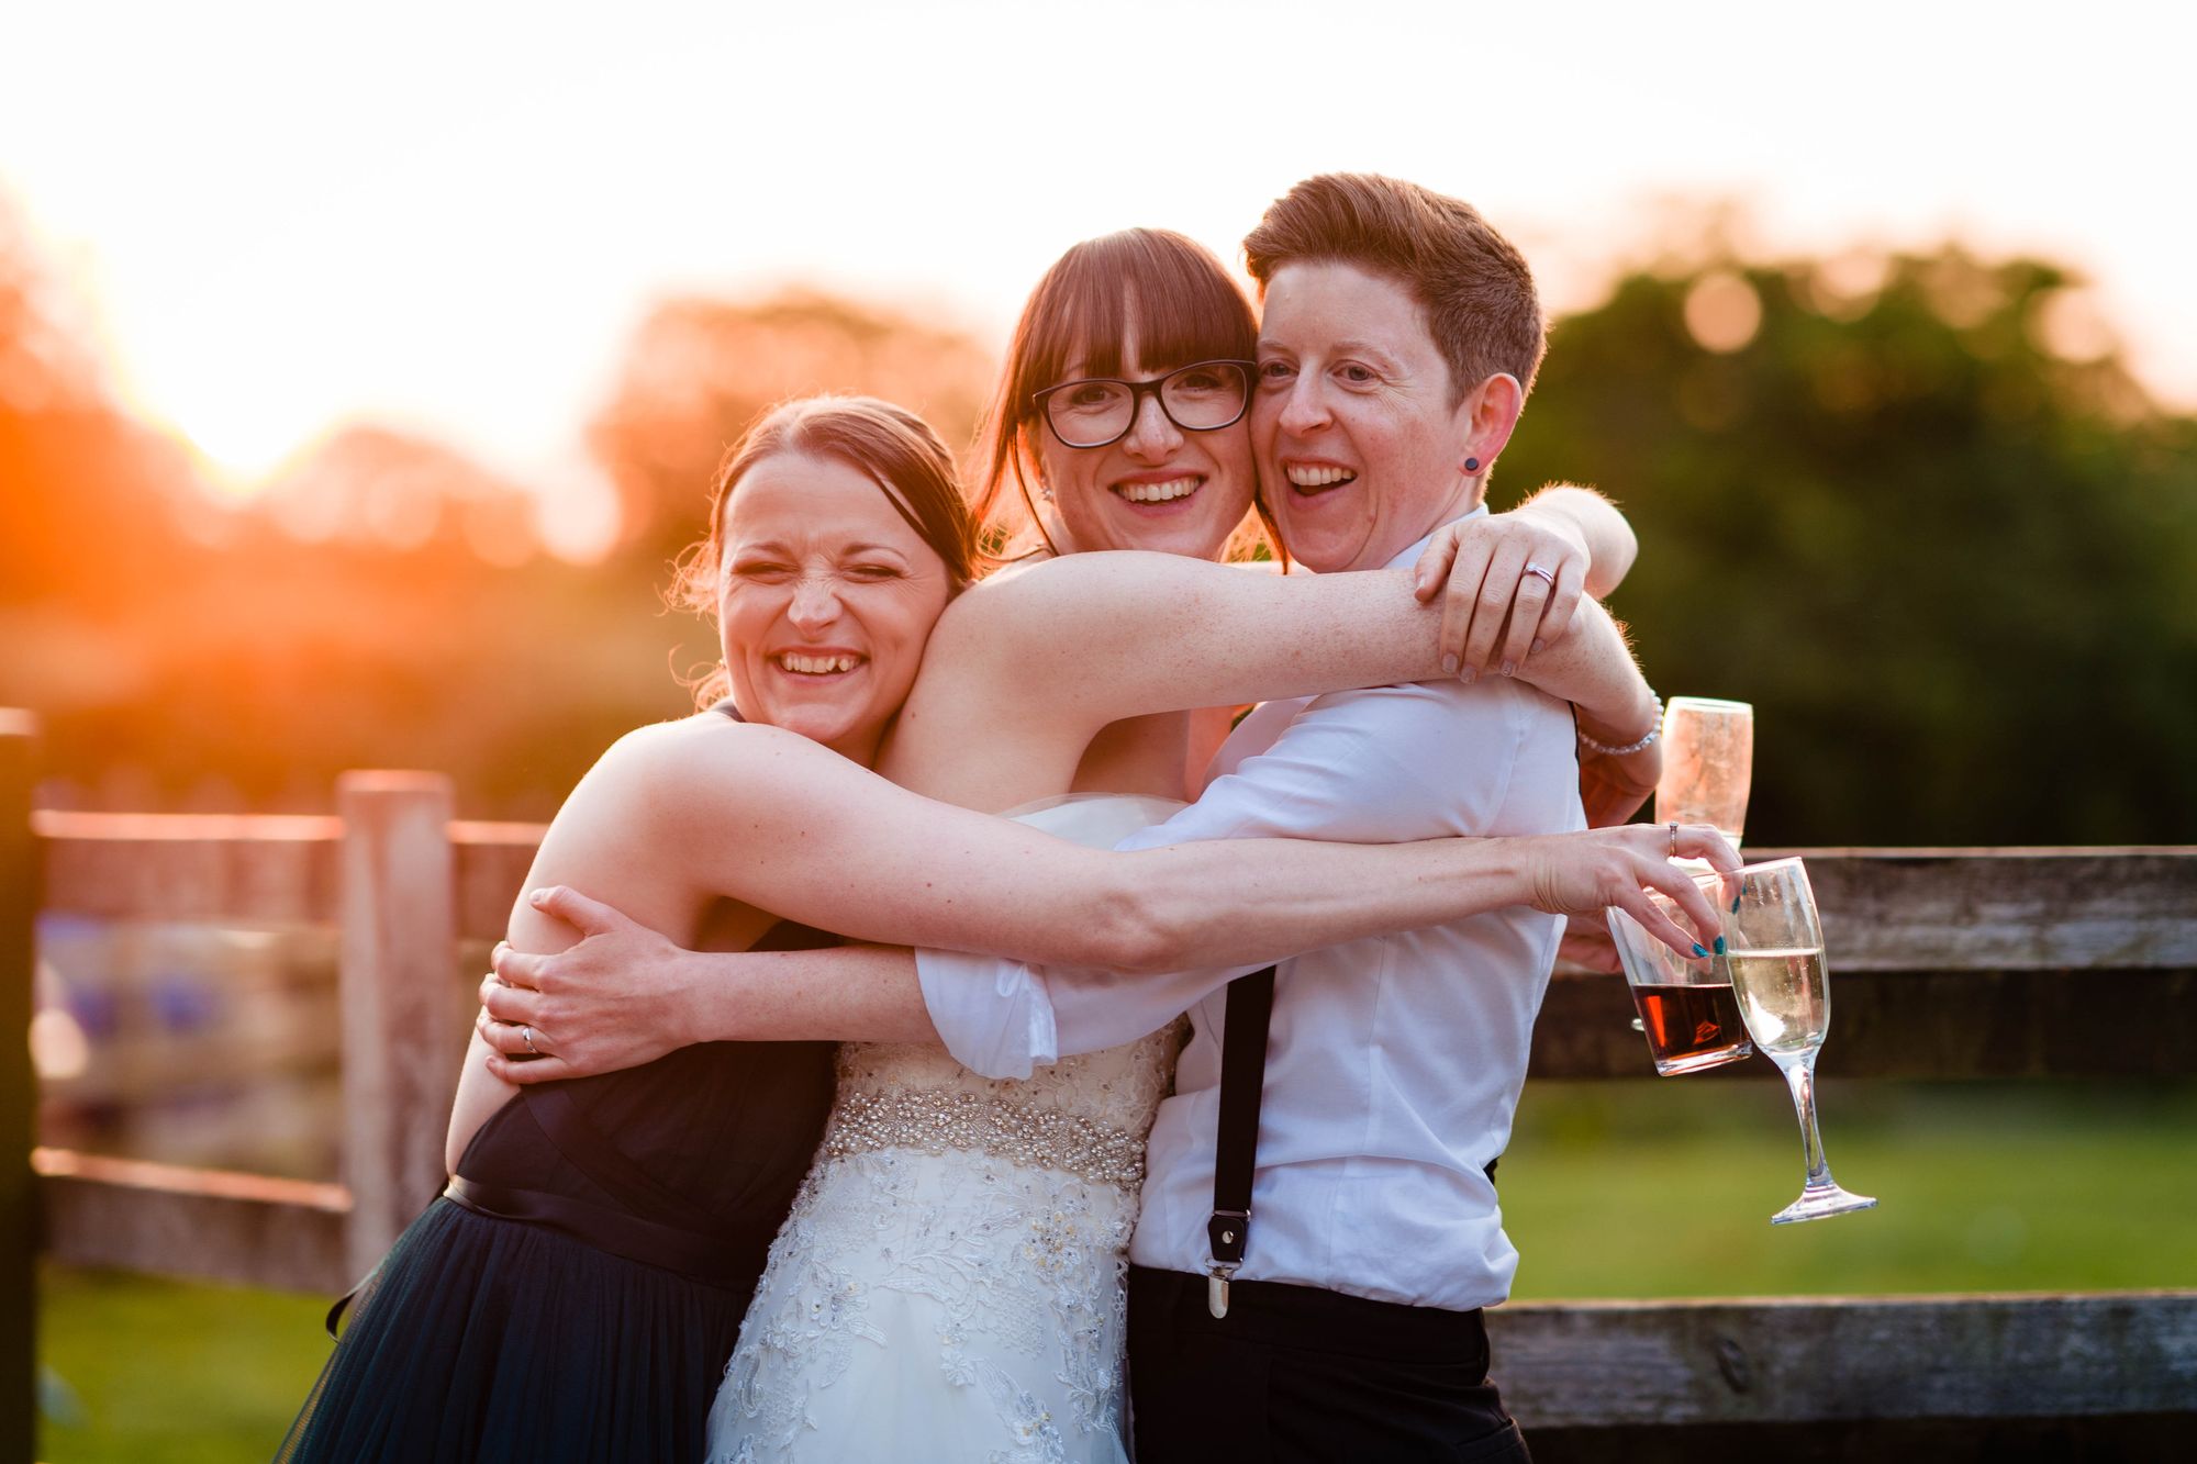
{"type": "Polygon", "coordinates": [[[995,558],[1035,547],[1030,528],[1052,547],[1030,501],[1033,433],[1044,431],[1030,398],[1068,380],[1070,365],[1077,376],[1120,376],[1120,347],[1131,334],[1147,371],[1250,361],[1259,347],[1259,321],[1244,290],[1204,244],[1171,229],[1123,229],[1055,259],[1015,321],[978,433],[975,517],[995,558]]]}

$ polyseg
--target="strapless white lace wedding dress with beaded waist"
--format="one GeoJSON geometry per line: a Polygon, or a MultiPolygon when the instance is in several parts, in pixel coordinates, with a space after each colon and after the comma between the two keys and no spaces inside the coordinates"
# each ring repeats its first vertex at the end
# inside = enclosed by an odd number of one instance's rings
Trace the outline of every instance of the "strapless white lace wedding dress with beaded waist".
{"type": "MultiPolygon", "coordinates": [[[[1112,846],[1180,805],[1013,818],[1112,846]]],[[[1125,1464],[1129,1231],[1182,1024],[1028,1082],[848,1044],[710,1409],[712,1464],[1125,1464]]]]}

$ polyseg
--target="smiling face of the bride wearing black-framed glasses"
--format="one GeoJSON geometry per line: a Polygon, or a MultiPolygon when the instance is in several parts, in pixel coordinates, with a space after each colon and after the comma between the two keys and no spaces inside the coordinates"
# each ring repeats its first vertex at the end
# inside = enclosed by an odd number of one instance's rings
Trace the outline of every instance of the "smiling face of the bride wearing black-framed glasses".
{"type": "MultiPolygon", "coordinates": [[[[1092,352],[1077,352],[1061,380],[1101,376],[1092,352]]],[[[1120,380],[1151,380],[1189,361],[1142,361],[1134,332],[1120,345],[1120,380]]],[[[1250,431],[1233,426],[1182,431],[1160,411],[1156,396],[1136,404],[1136,422],[1120,442],[1070,448],[1030,422],[1024,433],[1037,448],[1039,479],[1052,495],[1057,541],[1063,554],[1088,550],[1158,550],[1219,558],[1228,534],[1250,508],[1257,477],[1250,431]]]]}

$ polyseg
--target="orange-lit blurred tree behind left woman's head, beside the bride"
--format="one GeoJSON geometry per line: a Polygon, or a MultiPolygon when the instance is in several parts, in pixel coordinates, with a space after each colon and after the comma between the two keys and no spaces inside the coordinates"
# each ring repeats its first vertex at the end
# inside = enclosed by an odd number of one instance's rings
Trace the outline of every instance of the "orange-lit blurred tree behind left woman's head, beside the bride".
{"type": "Polygon", "coordinates": [[[923,413],[958,453],[991,365],[960,332],[830,295],[657,306],[589,429],[617,484],[624,552],[661,563],[696,539],[712,473],[765,407],[811,391],[881,396],[923,413]]]}

